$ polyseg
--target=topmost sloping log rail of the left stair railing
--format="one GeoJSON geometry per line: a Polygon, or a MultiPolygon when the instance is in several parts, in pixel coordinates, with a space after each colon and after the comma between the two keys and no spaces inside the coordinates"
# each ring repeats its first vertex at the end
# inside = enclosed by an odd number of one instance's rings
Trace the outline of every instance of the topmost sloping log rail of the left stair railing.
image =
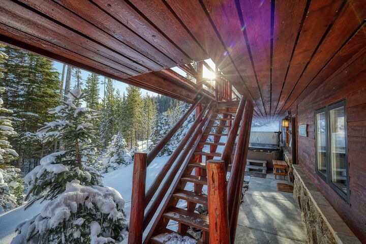
{"type": "Polygon", "coordinates": [[[192,104],[192,106],[187,110],[187,112],[175,123],[175,125],[168,131],[168,133],[165,134],[165,136],[158,142],[158,144],[147,154],[147,166],[151,162],[153,162],[155,157],[164,148],[164,146],[169,142],[169,140],[173,137],[175,132],[179,129],[179,127],[181,125],[183,125],[184,121],[186,121],[188,116],[192,113],[193,109],[195,109],[202,100],[203,100],[203,97],[201,97],[194,104],[192,104]]]}

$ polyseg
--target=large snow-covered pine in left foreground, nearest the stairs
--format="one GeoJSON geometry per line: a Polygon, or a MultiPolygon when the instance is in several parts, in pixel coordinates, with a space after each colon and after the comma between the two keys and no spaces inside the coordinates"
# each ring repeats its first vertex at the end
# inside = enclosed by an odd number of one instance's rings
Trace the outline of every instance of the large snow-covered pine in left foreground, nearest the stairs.
{"type": "Polygon", "coordinates": [[[125,201],[116,190],[102,186],[95,169],[82,164],[83,152],[93,147],[92,123],[98,117],[96,110],[80,107],[85,96],[78,87],[72,90],[64,105],[50,111],[58,119],[39,130],[46,132],[46,141],[57,138],[65,150],[44,157],[25,176],[29,204],[50,201],[39,215],[18,225],[14,244],[112,243],[127,234],[125,201]]]}

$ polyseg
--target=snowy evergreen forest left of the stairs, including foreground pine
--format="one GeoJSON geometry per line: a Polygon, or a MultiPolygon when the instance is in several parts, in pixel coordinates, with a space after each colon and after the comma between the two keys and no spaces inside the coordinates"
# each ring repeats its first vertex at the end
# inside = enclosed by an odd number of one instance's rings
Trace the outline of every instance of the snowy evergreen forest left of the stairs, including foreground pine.
{"type": "MultiPolygon", "coordinates": [[[[59,73],[50,59],[0,45],[0,214],[48,201],[17,227],[12,243],[123,240],[125,203],[101,174],[132,164],[134,152],[153,148],[189,107],[132,85],[121,92],[95,73],[83,80],[77,67],[63,65],[59,73]],[[88,200],[70,199],[76,192],[88,200]],[[60,206],[67,217],[56,214],[60,206]]],[[[159,157],[172,154],[194,116],[159,157]]]]}

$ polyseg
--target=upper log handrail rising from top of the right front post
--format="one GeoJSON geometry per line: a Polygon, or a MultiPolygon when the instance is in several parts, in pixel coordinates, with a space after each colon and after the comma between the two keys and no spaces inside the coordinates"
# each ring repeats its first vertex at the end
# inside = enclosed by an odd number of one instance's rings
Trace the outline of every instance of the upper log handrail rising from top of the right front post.
{"type": "Polygon", "coordinates": [[[225,161],[226,168],[228,168],[228,166],[229,166],[229,161],[231,158],[232,150],[234,148],[235,139],[237,136],[241,116],[244,112],[245,105],[246,105],[246,98],[241,98],[238,109],[236,110],[236,115],[235,115],[234,121],[231,125],[231,129],[228,134],[228,138],[226,140],[226,145],[225,145],[224,151],[221,155],[221,160],[225,161]]]}

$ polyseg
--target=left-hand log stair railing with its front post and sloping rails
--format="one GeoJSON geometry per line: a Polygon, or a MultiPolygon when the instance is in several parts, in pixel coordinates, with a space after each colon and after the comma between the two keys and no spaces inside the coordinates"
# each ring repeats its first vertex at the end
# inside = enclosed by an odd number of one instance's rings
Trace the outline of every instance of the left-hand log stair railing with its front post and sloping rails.
{"type": "Polygon", "coordinates": [[[175,175],[177,174],[181,166],[181,162],[183,162],[184,159],[187,157],[197,137],[202,134],[201,132],[202,127],[212,114],[213,109],[213,106],[211,106],[212,101],[209,102],[209,104],[206,105],[204,109],[202,109],[200,114],[196,117],[193,126],[186,133],[185,137],[181,140],[178,147],[174,150],[173,154],[167,161],[166,165],[157,175],[157,178],[154,180],[153,184],[145,194],[147,166],[155,159],[155,157],[169,142],[169,140],[173,137],[173,135],[176,133],[179,127],[187,120],[188,116],[198,106],[198,104],[200,104],[201,101],[202,98],[198,99],[190,107],[190,109],[179,119],[179,121],[177,121],[177,123],[169,130],[169,132],[163,137],[163,139],[159,141],[159,143],[150,151],[149,154],[135,153],[134,167],[133,167],[133,188],[131,196],[131,216],[133,216],[134,218],[130,218],[128,243],[142,243],[143,231],[145,230],[151,219],[154,217],[156,210],[158,209],[161,201],[163,200],[167,190],[169,189],[172,183],[172,180],[174,179],[175,175]],[[208,109],[209,107],[210,110],[208,109]],[[184,151],[182,151],[182,153],[180,154],[180,151],[184,147],[185,147],[184,151]],[[166,172],[171,168],[174,162],[177,163],[170,171],[170,174],[168,175],[164,184],[161,185],[161,182],[166,177],[166,172]],[[157,194],[157,197],[154,199],[154,201],[151,202],[145,214],[146,207],[148,206],[149,202],[151,201],[151,199],[153,198],[159,187],[161,187],[161,190],[157,194]]]}

